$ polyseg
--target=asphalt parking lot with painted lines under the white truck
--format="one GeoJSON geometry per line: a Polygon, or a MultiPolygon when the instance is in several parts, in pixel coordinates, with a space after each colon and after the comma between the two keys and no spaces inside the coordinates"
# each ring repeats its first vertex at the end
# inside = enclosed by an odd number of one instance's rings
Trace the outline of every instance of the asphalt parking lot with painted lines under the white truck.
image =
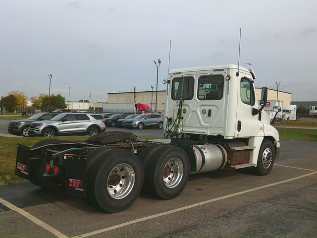
{"type": "MultiPolygon", "coordinates": [[[[159,129],[132,131],[162,136],[159,129]]],[[[282,140],[267,176],[250,169],[190,176],[177,198],[141,193],[116,214],[30,182],[0,186],[1,237],[315,237],[316,148],[282,140]]]]}

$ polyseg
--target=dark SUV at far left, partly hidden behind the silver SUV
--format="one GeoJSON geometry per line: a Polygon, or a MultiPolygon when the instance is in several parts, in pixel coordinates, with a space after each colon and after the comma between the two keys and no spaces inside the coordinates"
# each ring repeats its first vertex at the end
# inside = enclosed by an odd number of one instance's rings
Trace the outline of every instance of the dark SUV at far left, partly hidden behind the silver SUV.
{"type": "Polygon", "coordinates": [[[28,119],[11,120],[8,125],[8,132],[14,135],[29,136],[29,126],[37,120],[50,120],[57,116],[57,113],[38,113],[28,119]]]}

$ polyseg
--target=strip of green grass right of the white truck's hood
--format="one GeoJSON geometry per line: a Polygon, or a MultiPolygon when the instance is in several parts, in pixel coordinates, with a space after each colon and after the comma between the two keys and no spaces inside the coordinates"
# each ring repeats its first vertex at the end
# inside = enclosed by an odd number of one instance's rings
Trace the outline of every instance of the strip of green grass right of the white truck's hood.
{"type": "Polygon", "coordinates": [[[317,129],[276,128],[280,139],[317,141],[317,129]]]}

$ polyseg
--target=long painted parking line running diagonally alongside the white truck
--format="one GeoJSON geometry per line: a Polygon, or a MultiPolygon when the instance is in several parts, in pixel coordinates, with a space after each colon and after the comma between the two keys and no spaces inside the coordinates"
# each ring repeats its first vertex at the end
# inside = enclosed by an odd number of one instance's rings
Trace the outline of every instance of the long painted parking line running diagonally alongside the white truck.
{"type": "Polygon", "coordinates": [[[90,236],[97,235],[97,234],[100,234],[100,233],[104,233],[104,232],[107,232],[107,231],[115,230],[115,229],[118,229],[118,228],[121,228],[121,227],[129,226],[129,225],[132,225],[132,224],[135,224],[135,223],[144,222],[144,221],[147,221],[147,220],[150,220],[150,219],[158,218],[158,217],[165,216],[165,215],[168,215],[168,214],[172,214],[172,213],[175,213],[175,212],[184,211],[184,210],[187,210],[187,209],[190,209],[190,208],[194,208],[194,207],[198,207],[198,206],[201,206],[201,205],[206,205],[206,204],[211,203],[211,202],[215,202],[215,201],[219,201],[219,200],[222,200],[222,199],[226,199],[226,198],[238,196],[238,195],[241,195],[241,194],[245,194],[245,193],[248,193],[248,192],[260,190],[260,189],[263,189],[263,188],[275,186],[275,185],[282,184],[282,183],[285,183],[285,182],[290,182],[290,181],[294,181],[294,180],[297,180],[297,179],[302,179],[302,178],[305,178],[305,177],[308,177],[308,176],[312,176],[312,175],[315,175],[315,174],[317,174],[317,171],[314,171],[314,172],[306,174],[306,175],[294,177],[292,179],[286,179],[286,180],[282,180],[282,181],[279,181],[279,182],[266,184],[266,185],[263,185],[263,186],[260,186],[260,187],[255,187],[255,188],[251,188],[251,189],[248,189],[248,190],[244,190],[244,191],[241,191],[241,192],[231,193],[229,195],[213,198],[213,199],[206,200],[206,201],[203,201],[203,202],[194,203],[192,205],[176,208],[176,209],[173,209],[173,210],[170,210],[170,211],[167,211],[167,212],[162,212],[162,213],[154,214],[154,215],[151,215],[151,216],[143,217],[143,218],[140,218],[140,219],[132,220],[132,221],[129,221],[129,222],[121,223],[121,224],[118,224],[118,225],[115,225],[115,226],[112,226],[112,227],[107,227],[107,228],[104,228],[104,229],[101,229],[101,230],[97,230],[97,231],[94,231],[94,232],[82,234],[82,235],[79,235],[79,236],[76,236],[76,237],[73,237],[73,238],[90,237],[90,236]]]}

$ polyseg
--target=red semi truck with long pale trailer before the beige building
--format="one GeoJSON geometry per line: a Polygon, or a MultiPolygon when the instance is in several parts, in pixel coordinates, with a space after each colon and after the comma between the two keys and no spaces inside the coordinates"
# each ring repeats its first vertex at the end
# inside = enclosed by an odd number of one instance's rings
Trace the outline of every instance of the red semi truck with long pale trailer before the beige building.
{"type": "Polygon", "coordinates": [[[151,113],[150,106],[144,103],[104,103],[103,113],[151,113]]]}

